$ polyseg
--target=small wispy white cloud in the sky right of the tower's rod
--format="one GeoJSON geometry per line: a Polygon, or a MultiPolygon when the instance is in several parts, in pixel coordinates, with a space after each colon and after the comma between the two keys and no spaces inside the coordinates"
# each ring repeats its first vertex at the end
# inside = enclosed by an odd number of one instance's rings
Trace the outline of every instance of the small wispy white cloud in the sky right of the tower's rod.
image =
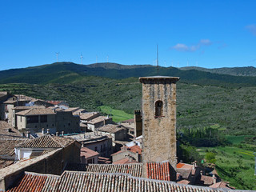
{"type": "Polygon", "coordinates": [[[201,39],[197,44],[192,46],[187,46],[186,44],[178,43],[175,46],[172,46],[171,49],[178,50],[178,51],[188,51],[194,52],[199,50],[202,46],[210,46],[212,42],[210,39],[201,39]]]}

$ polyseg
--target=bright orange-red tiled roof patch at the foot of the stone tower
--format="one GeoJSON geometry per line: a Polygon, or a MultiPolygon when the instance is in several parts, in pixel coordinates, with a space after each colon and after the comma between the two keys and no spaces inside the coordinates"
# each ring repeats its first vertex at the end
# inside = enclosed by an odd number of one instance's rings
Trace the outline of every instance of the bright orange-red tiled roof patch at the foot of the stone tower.
{"type": "Polygon", "coordinates": [[[147,162],[147,178],[170,181],[170,163],[169,162],[147,162]]]}

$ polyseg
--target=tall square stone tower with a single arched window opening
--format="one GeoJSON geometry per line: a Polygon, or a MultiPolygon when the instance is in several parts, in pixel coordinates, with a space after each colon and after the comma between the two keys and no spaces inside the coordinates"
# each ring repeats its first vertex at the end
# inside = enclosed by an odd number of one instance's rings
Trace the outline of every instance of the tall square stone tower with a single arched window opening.
{"type": "MultiPolygon", "coordinates": [[[[168,161],[176,175],[176,82],[174,77],[139,78],[142,82],[142,158],[146,162],[168,161]]],[[[174,178],[175,179],[175,178],[174,178]]]]}

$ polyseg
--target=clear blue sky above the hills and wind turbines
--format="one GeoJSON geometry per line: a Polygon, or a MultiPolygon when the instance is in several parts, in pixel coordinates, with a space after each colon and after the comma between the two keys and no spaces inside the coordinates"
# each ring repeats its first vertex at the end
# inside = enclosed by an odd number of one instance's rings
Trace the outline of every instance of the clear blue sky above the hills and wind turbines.
{"type": "Polygon", "coordinates": [[[256,1],[1,1],[0,70],[56,62],[256,66],[256,1]]]}

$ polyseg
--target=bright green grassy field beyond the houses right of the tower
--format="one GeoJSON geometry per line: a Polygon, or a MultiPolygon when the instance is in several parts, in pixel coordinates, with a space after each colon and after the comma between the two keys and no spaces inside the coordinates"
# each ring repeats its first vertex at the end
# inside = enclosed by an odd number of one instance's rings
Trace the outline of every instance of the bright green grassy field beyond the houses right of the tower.
{"type": "Polygon", "coordinates": [[[232,146],[200,147],[199,153],[216,154],[216,170],[220,178],[230,182],[239,190],[256,190],[256,176],[254,176],[254,151],[256,146],[242,144],[246,136],[227,135],[232,146]]]}

